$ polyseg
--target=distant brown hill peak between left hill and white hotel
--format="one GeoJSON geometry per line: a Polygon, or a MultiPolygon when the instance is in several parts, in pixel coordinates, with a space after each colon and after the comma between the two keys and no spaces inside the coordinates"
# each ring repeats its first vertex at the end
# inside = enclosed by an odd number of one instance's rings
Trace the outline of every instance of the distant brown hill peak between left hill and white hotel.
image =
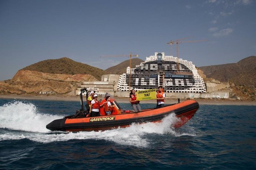
{"type": "MultiPolygon", "coordinates": [[[[139,59],[139,58],[132,58],[131,60],[132,60],[132,64],[131,64],[132,68],[135,68],[136,65],[140,65],[141,62],[144,62],[142,59],[139,59]]],[[[113,67],[109,67],[108,69],[105,69],[105,71],[109,72],[111,74],[123,74],[123,73],[126,73],[126,69],[127,69],[127,67],[129,67],[129,64],[130,64],[130,62],[128,59],[128,60],[121,62],[118,65],[115,65],[113,67]]]]}

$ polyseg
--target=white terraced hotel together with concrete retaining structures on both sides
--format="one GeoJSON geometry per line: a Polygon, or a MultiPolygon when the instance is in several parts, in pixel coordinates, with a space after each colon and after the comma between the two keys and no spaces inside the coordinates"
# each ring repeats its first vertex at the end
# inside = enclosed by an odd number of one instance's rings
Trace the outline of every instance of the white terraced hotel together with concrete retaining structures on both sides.
{"type": "MultiPolygon", "coordinates": [[[[127,67],[127,73],[122,75],[102,75],[101,81],[81,82],[78,89],[70,95],[79,95],[81,88],[95,91],[104,96],[129,97],[129,73],[131,72],[131,89],[153,89],[163,86],[166,98],[229,98],[229,91],[219,91],[224,85],[206,85],[198,74],[195,65],[177,57],[165,56],[164,52],[146,57],[145,62],[135,68],[127,67]],[[131,70],[131,71],[130,71],[131,70]]],[[[207,83],[207,82],[206,82],[207,83]]]]}

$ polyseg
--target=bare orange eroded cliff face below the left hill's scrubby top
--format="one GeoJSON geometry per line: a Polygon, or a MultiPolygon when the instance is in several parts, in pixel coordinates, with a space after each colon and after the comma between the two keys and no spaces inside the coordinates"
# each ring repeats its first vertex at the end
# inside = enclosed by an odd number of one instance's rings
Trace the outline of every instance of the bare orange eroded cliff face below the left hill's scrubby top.
{"type": "Polygon", "coordinates": [[[0,82],[0,93],[39,93],[65,94],[77,88],[81,81],[97,81],[88,74],[49,74],[37,71],[19,70],[12,80],[0,82]]]}

